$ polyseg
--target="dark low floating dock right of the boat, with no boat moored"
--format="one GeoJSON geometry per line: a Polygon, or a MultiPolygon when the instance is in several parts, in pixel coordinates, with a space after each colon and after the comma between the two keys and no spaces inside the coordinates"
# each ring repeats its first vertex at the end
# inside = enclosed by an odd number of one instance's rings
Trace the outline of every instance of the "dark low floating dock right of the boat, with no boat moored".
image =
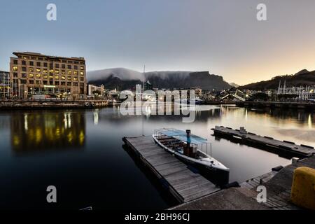
{"type": "Polygon", "coordinates": [[[239,139],[244,143],[259,144],[272,148],[274,151],[282,151],[284,153],[292,153],[302,158],[310,157],[315,154],[313,146],[297,145],[291,141],[279,141],[272,137],[262,137],[251,132],[241,132],[233,130],[230,127],[216,126],[212,128],[215,135],[221,135],[233,139],[239,139]]]}

